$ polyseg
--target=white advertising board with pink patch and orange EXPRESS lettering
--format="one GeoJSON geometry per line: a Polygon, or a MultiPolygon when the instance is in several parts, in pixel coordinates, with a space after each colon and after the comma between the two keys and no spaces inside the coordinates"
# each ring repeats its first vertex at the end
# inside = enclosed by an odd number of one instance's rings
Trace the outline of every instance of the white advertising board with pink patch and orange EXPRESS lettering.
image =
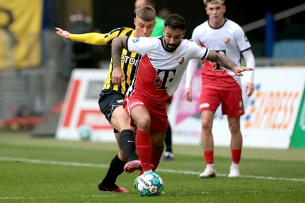
{"type": "MultiPolygon", "coordinates": [[[[184,81],[174,94],[168,113],[173,125],[173,143],[200,144],[200,75],[198,70],[193,80],[192,103],[184,100],[184,81]]],[[[243,93],[243,146],[289,148],[304,92],[305,67],[257,68],[254,84],[255,91],[250,98],[243,93]]],[[[227,116],[222,115],[220,108],[214,116],[213,134],[215,145],[229,146],[227,116]]]]}

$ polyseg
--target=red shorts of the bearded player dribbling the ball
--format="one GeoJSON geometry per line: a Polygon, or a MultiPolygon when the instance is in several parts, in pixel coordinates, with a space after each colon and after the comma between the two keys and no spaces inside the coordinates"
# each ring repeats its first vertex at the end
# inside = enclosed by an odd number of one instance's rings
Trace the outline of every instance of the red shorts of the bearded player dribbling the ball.
{"type": "MultiPolygon", "coordinates": [[[[164,105],[156,104],[154,101],[145,100],[138,96],[132,95],[131,97],[125,96],[123,107],[127,114],[130,116],[130,112],[134,107],[142,105],[148,109],[150,114],[150,133],[166,133],[168,127],[168,118],[166,113],[166,103],[164,105]]],[[[130,125],[137,127],[132,119],[130,119],[130,125]]]]}

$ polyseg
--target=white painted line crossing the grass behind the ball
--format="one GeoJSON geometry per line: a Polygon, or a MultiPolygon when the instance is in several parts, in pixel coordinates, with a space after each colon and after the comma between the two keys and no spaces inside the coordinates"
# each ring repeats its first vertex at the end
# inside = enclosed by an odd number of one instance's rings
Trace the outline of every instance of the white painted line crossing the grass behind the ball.
{"type": "MultiPolygon", "coordinates": [[[[0,161],[17,161],[25,162],[30,164],[52,164],[52,165],[62,165],[62,166],[84,166],[84,167],[96,167],[96,168],[108,168],[108,165],[105,164],[87,164],[87,163],[78,163],[78,162],[67,162],[67,161],[48,161],[48,160],[39,160],[39,159],[24,159],[24,158],[14,158],[14,157],[0,157],[0,161]]],[[[170,170],[158,168],[158,171],[164,173],[180,173],[188,175],[198,175],[200,172],[187,171],[187,170],[170,170]]],[[[217,173],[218,176],[227,176],[227,174],[217,173]]],[[[305,179],[297,178],[284,178],[284,177],[263,177],[255,175],[241,175],[240,177],[244,178],[254,178],[254,179],[272,179],[272,180],[284,180],[292,182],[305,182],[305,179]]]]}

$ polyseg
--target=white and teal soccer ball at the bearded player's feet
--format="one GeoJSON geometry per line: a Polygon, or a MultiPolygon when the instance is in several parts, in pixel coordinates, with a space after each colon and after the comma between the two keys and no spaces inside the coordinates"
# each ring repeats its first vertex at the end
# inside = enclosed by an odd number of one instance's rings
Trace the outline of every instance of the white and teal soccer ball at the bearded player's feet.
{"type": "Polygon", "coordinates": [[[141,196],[158,196],[163,191],[163,180],[157,173],[147,172],[137,177],[134,187],[141,196]]]}

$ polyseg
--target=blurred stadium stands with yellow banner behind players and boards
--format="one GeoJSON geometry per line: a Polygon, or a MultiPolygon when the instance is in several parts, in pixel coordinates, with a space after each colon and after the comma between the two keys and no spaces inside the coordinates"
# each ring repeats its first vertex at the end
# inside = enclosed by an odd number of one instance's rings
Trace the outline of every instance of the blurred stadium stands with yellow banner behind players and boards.
{"type": "MultiPolygon", "coordinates": [[[[240,24],[250,39],[256,67],[305,69],[304,1],[228,0],[226,4],[226,17],[240,24]]],[[[157,12],[163,8],[185,17],[186,38],[207,19],[202,0],[191,0],[187,6],[184,0],[157,0],[157,12]]],[[[1,130],[54,136],[73,67],[67,47],[74,46],[60,39],[55,27],[71,30],[78,9],[87,12],[87,24],[94,32],[134,27],[134,0],[0,1],[1,130]]],[[[80,49],[92,56],[90,66],[80,68],[108,68],[110,47],[80,49]]]]}

